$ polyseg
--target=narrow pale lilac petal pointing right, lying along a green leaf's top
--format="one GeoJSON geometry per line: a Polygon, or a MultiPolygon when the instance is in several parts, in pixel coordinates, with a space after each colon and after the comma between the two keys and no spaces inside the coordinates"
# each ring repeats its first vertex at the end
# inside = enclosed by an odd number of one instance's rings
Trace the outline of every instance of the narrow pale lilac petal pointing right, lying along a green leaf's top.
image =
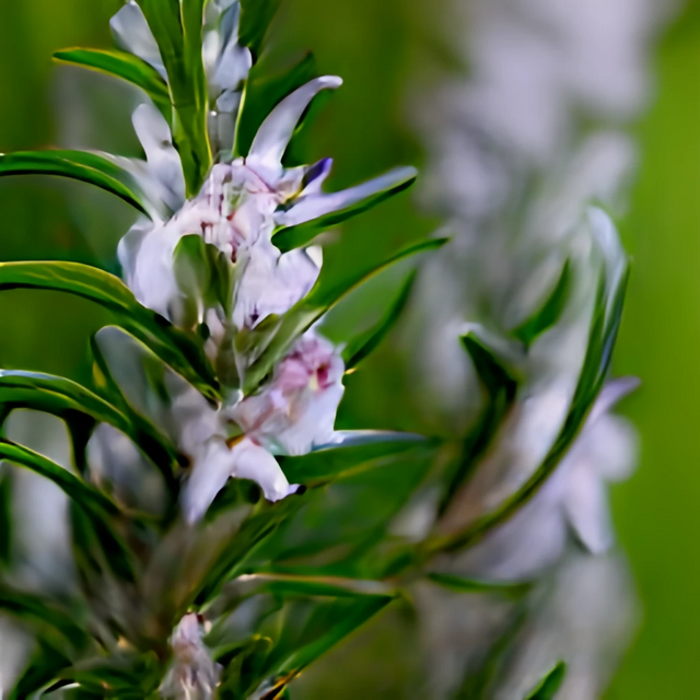
{"type": "Polygon", "coordinates": [[[370,197],[412,182],[416,175],[417,171],[413,167],[399,167],[350,189],[330,195],[317,194],[301,197],[291,209],[276,215],[277,224],[295,226],[336,211],[350,209],[370,197]]]}

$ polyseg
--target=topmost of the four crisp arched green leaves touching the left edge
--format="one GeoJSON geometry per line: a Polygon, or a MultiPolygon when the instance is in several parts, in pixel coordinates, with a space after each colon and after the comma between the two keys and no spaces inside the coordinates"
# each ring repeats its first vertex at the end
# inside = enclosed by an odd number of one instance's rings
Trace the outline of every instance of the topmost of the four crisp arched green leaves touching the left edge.
{"type": "Polygon", "coordinates": [[[140,212],[158,219],[161,211],[133,175],[114,159],[83,151],[23,151],[0,154],[0,177],[58,175],[95,185],[120,197],[140,212]]]}

